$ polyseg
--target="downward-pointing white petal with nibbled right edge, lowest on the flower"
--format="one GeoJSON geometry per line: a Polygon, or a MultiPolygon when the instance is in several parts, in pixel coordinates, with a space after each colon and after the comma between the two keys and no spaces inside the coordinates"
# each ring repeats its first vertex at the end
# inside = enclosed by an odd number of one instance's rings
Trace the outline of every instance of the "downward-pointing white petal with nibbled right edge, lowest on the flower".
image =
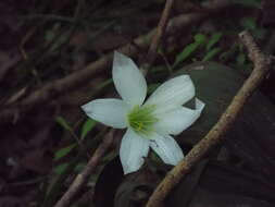
{"type": "Polygon", "coordinates": [[[149,151],[149,139],[128,129],[122,138],[120,157],[124,174],[137,171],[145,162],[149,151]]]}

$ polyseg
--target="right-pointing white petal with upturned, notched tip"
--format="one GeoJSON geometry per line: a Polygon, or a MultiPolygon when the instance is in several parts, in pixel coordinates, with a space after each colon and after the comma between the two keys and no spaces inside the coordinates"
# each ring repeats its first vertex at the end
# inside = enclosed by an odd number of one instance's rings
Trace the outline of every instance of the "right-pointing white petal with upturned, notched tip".
{"type": "Polygon", "coordinates": [[[159,121],[153,125],[157,133],[177,135],[189,127],[201,114],[204,104],[196,99],[196,109],[180,107],[172,111],[160,113],[159,121]]]}

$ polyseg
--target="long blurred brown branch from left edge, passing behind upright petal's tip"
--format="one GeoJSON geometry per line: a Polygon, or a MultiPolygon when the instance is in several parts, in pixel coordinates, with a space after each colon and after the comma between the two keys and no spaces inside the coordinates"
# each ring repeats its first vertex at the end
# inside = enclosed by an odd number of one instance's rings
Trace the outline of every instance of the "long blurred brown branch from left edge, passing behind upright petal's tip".
{"type": "MultiPolygon", "coordinates": [[[[228,0],[215,0],[211,1],[211,3],[205,4],[205,8],[209,9],[212,13],[221,12],[222,9],[228,8],[230,5],[228,0]]],[[[209,14],[212,14],[209,13],[209,14]]],[[[190,13],[183,14],[172,19],[166,27],[165,33],[171,35],[175,33],[177,29],[183,28],[189,24],[192,24],[197,21],[200,21],[202,17],[209,15],[208,13],[190,13]]],[[[152,36],[155,34],[157,28],[152,29],[148,34],[140,36],[134,40],[134,42],[140,48],[148,48],[149,44],[152,39],[152,36]]],[[[138,53],[138,49],[133,45],[126,45],[124,47],[118,48],[118,51],[134,57],[138,53]]],[[[29,96],[22,99],[15,105],[4,105],[1,106],[0,120],[1,121],[12,121],[16,117],[21,115],[24,112],[29,111],[34,106],[38,106],[39,104],[50,104],[55,98],[62,96],[63,94],[75,89],[87,83],[92,76],[97,73],[104,72],[108,66],[110,66],[112,61],[112,53],[104,56],[96,62],[88,64],[85,69],[72,73],[63,78],[50,82],[45,86],[37,88],[29,96]]]]}

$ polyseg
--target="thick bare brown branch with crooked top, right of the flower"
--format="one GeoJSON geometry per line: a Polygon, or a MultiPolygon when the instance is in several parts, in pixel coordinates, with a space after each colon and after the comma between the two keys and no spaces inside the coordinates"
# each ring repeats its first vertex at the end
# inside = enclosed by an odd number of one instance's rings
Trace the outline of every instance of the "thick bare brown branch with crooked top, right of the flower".
{"type": "Polygon", "coordinates": [[[167,173],[149,198],[146,207],[161,206],[161,203],[165,199],[171,190],[188,172],[190,172],[191,168],[200,161],[213,146],[223,139],[225,133],[230,129],[248,98],[258,88],[266,73],[270,71],[272,59],[259,50],[252,36],[248,32],[242,32],[239,37],[248,50],[250,60],[254,63],[252,73],[234,97],[218,122],[211,129],[207,136],[201,139],[190,150],[190,153],[167,173]]]}

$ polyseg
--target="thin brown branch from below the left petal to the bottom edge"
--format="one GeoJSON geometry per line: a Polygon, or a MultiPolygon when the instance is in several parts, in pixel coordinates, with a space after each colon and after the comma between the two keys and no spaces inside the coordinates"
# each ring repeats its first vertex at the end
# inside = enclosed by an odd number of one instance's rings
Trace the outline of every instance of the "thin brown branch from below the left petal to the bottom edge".
{"type": "Polygon", "coordinates": [[[82,187],[88,182],[91,173],[95,171],[96,167],[99,165],[101,158],[105,155],[107,150],[113,143],[113,130],[111,130],[104,137],[103,142],[99,145],[86,168],[80,172],[70,185],[65,194],[60,198],[60,200],[54,205],[54,207],[67,207],[73,202],[77,193],[82,187]]]}

